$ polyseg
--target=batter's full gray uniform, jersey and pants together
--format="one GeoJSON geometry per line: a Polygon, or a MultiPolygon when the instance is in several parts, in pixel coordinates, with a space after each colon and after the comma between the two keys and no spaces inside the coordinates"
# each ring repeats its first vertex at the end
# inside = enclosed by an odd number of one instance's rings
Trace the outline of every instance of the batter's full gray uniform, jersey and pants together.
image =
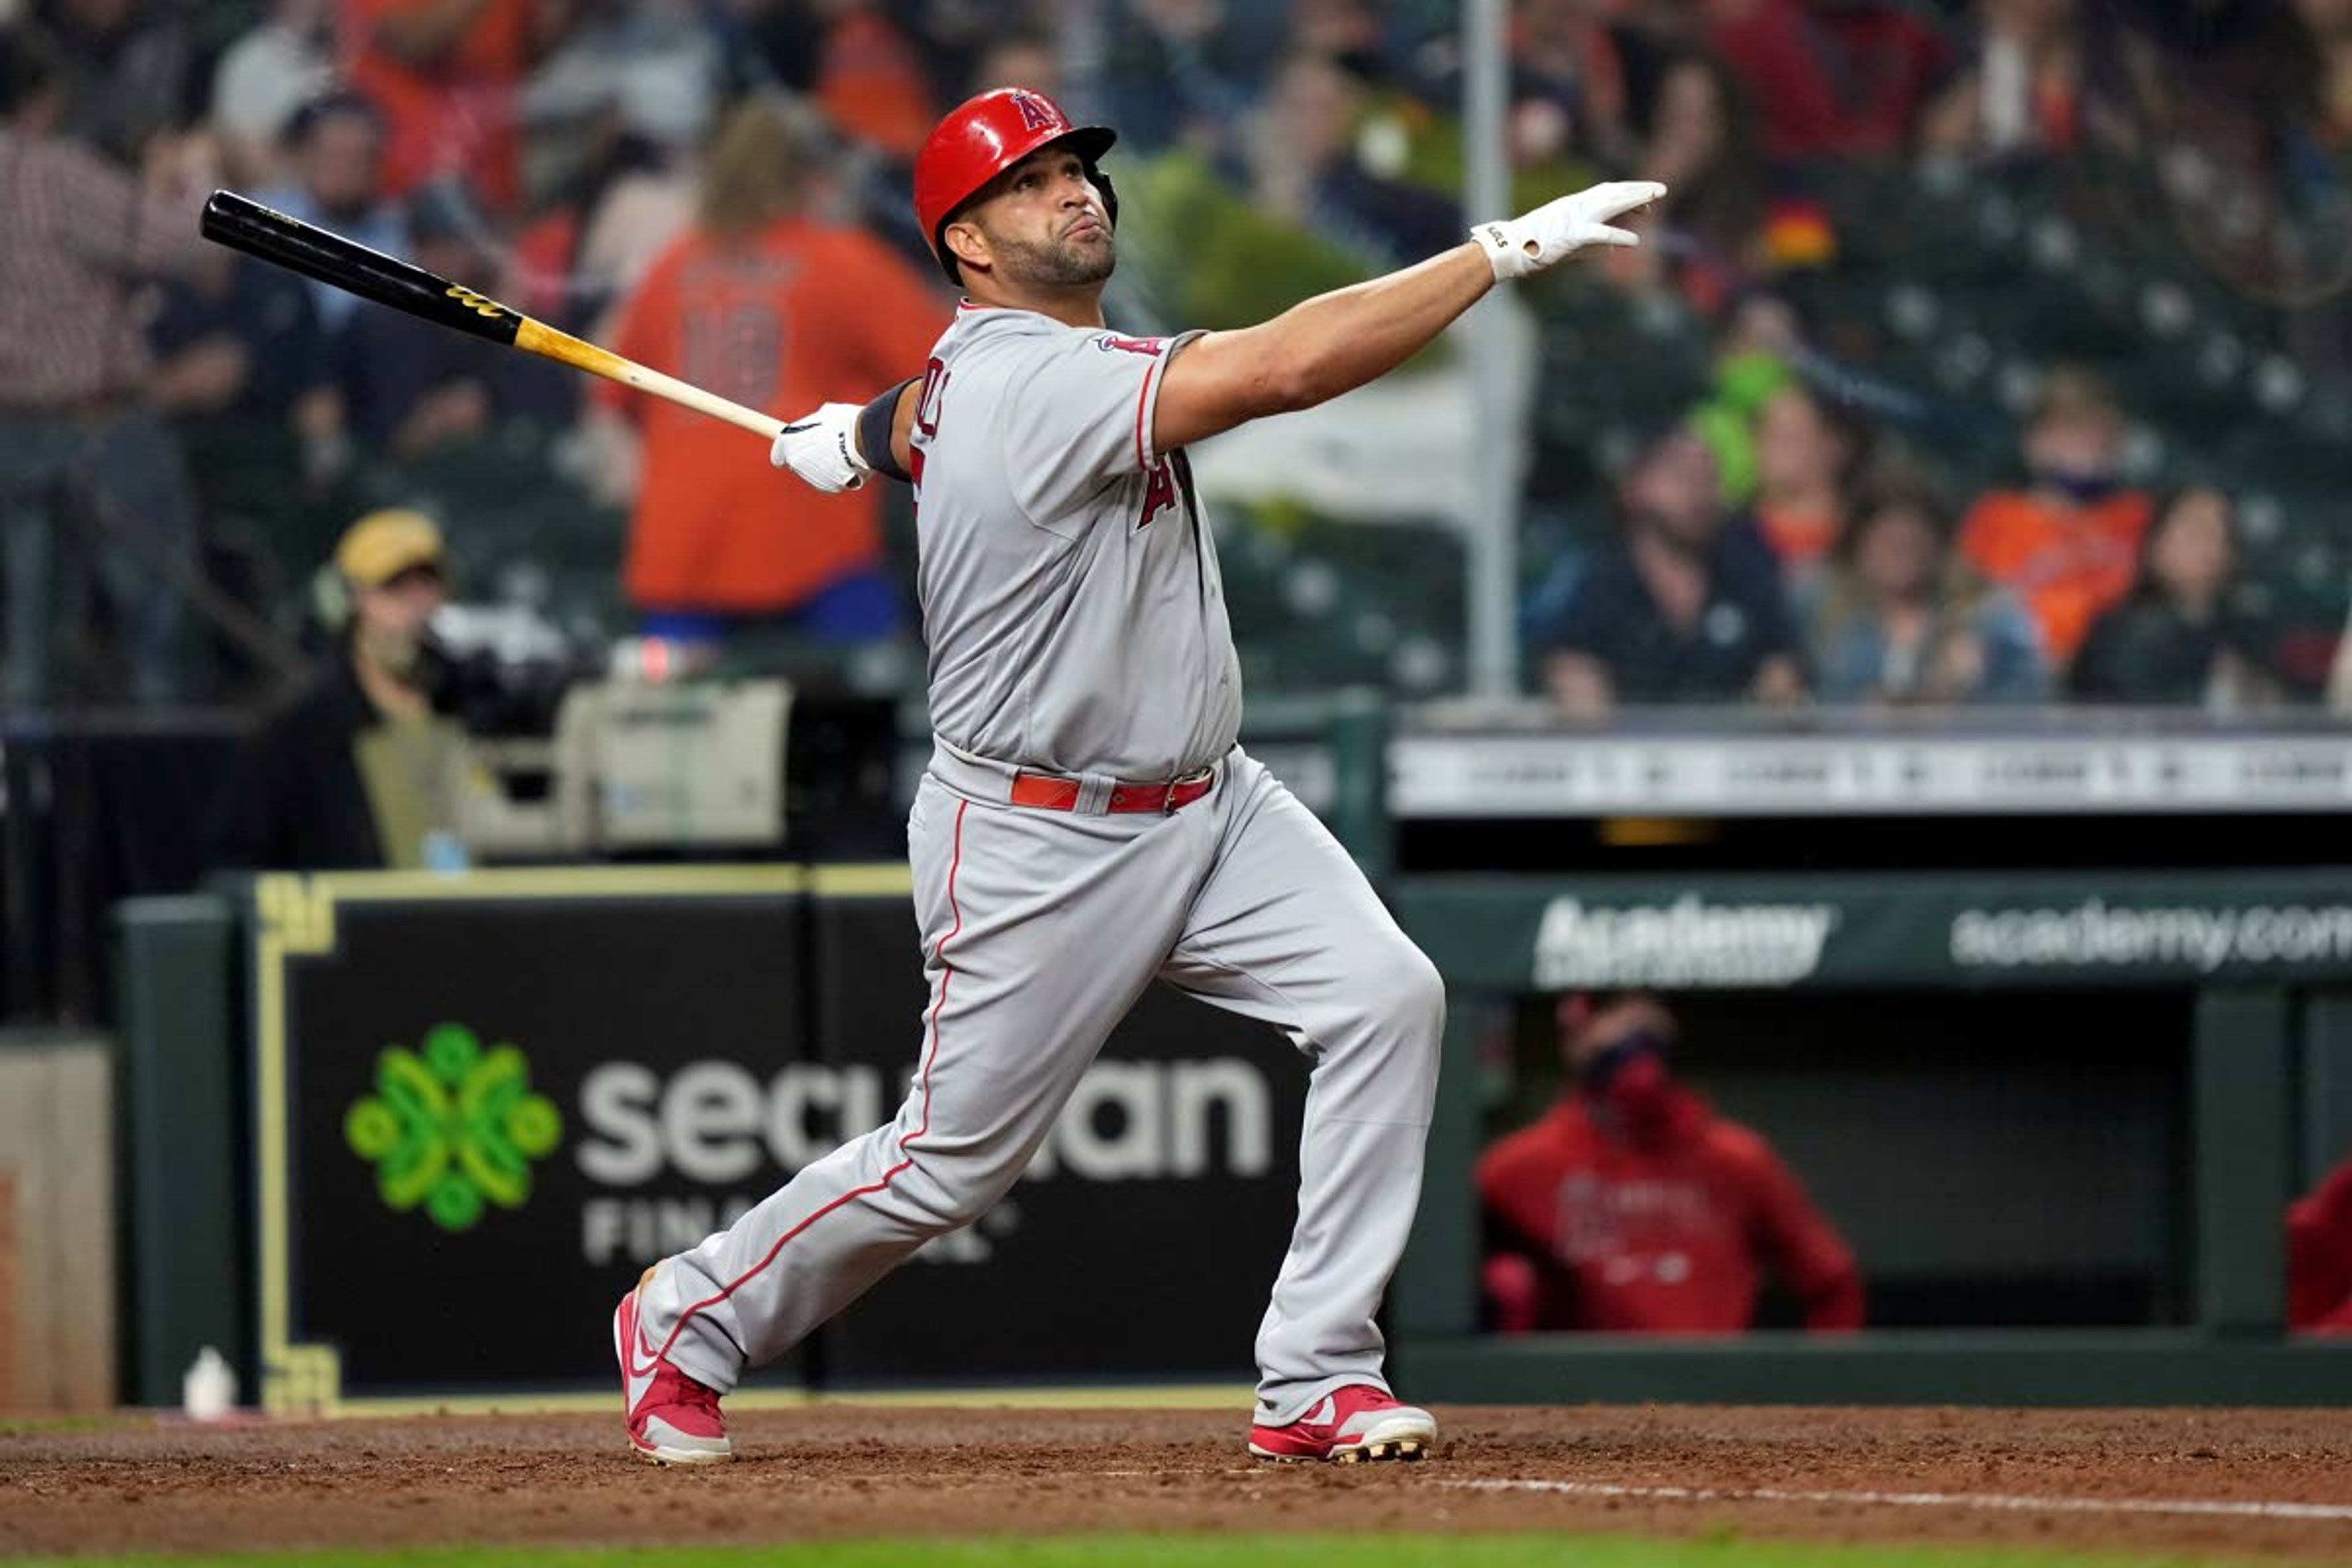
{"type": "Polygon", "coordinates": [[[1272,1023],[1310,1063],[1261,1425],[1388,1387],[1374,1314],[1421,1194],[1444,985],[1235,745],[1216,550],[1183,454],[1152,449],[1181,343],[978,308],[938,341],[913,442],[938,729],[908,818],[929,978],[915,1079],[894,1121],[654,1272],[640,1356],[727,1392],[983,1215],[1162,980],[1272,1023]],[[1112,809],[1110,780],[1202,766],[1211,788],[1178,809],[1112,809]],[[1023,769],[1082,788],[1070,809],[1014,804],[1023,769]]]}

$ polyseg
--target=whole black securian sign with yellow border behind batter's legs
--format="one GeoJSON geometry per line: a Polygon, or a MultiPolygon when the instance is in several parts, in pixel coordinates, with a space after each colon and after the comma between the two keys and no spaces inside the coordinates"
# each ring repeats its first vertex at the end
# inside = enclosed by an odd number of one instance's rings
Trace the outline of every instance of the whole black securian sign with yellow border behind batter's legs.
{"type": "MultiPolygon", "coordinates": [[[[647,1262],[894,1112],[924,1004],[906,886],[256,882],[263,1401],[602,1396],[647,1262]]],[[[760,1382],[1247,1380],[1303,1098],[1279,1034],[1155,992],[997,1211],[760,1382]]]]}

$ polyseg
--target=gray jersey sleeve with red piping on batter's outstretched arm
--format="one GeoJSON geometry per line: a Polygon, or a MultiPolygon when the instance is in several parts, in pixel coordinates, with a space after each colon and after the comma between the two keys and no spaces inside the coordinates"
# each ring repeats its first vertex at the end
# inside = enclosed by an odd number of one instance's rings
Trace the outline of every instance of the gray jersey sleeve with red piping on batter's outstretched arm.
{"type": "Polygon", "coordinates": [[[1004,465],[1030,522],[1061,522],[1105,484],[1160,461],[1160,383],[1195,336],[1054,334],[1028,355],[1004,407],[1004,465]]]}

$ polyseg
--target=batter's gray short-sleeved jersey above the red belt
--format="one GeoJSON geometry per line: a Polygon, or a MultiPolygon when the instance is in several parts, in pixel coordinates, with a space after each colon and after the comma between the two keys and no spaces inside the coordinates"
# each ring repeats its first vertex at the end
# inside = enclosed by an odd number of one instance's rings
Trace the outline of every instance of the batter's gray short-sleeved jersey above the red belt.
{"type": "Polygon", "coordinates": [[[964,306],[938,339],[913,475],[941,741],[1112,778],[1174,778],[1232,745],[1216,545],[1183,454],[1150,435],[1192,336],[964,306]]]}

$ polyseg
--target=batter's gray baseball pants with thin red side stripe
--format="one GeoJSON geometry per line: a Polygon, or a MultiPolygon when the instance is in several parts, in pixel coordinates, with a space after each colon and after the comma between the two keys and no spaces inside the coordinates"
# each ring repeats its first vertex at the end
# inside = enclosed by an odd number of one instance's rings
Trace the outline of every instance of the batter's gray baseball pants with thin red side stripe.
{"type": "MultiPolygon", "coordinates": [[[[1004,804],[941,750],[908,858],[929,1004],[898,1117],[804,1166],[644,1288],[647,1340],[720,1389],[774,1361],[1028,1168],[1155,978],[1310,1060],[1298,1222],[1258,1328],[1258,1420],[1385,1389],[1374,1312],[1421,1197],[1444,987],[1348,851],[1235,748],[1174,813],[1004,804]]],[[[1089,799],[1096,795],[1089,790],[1089,799]]]]}

